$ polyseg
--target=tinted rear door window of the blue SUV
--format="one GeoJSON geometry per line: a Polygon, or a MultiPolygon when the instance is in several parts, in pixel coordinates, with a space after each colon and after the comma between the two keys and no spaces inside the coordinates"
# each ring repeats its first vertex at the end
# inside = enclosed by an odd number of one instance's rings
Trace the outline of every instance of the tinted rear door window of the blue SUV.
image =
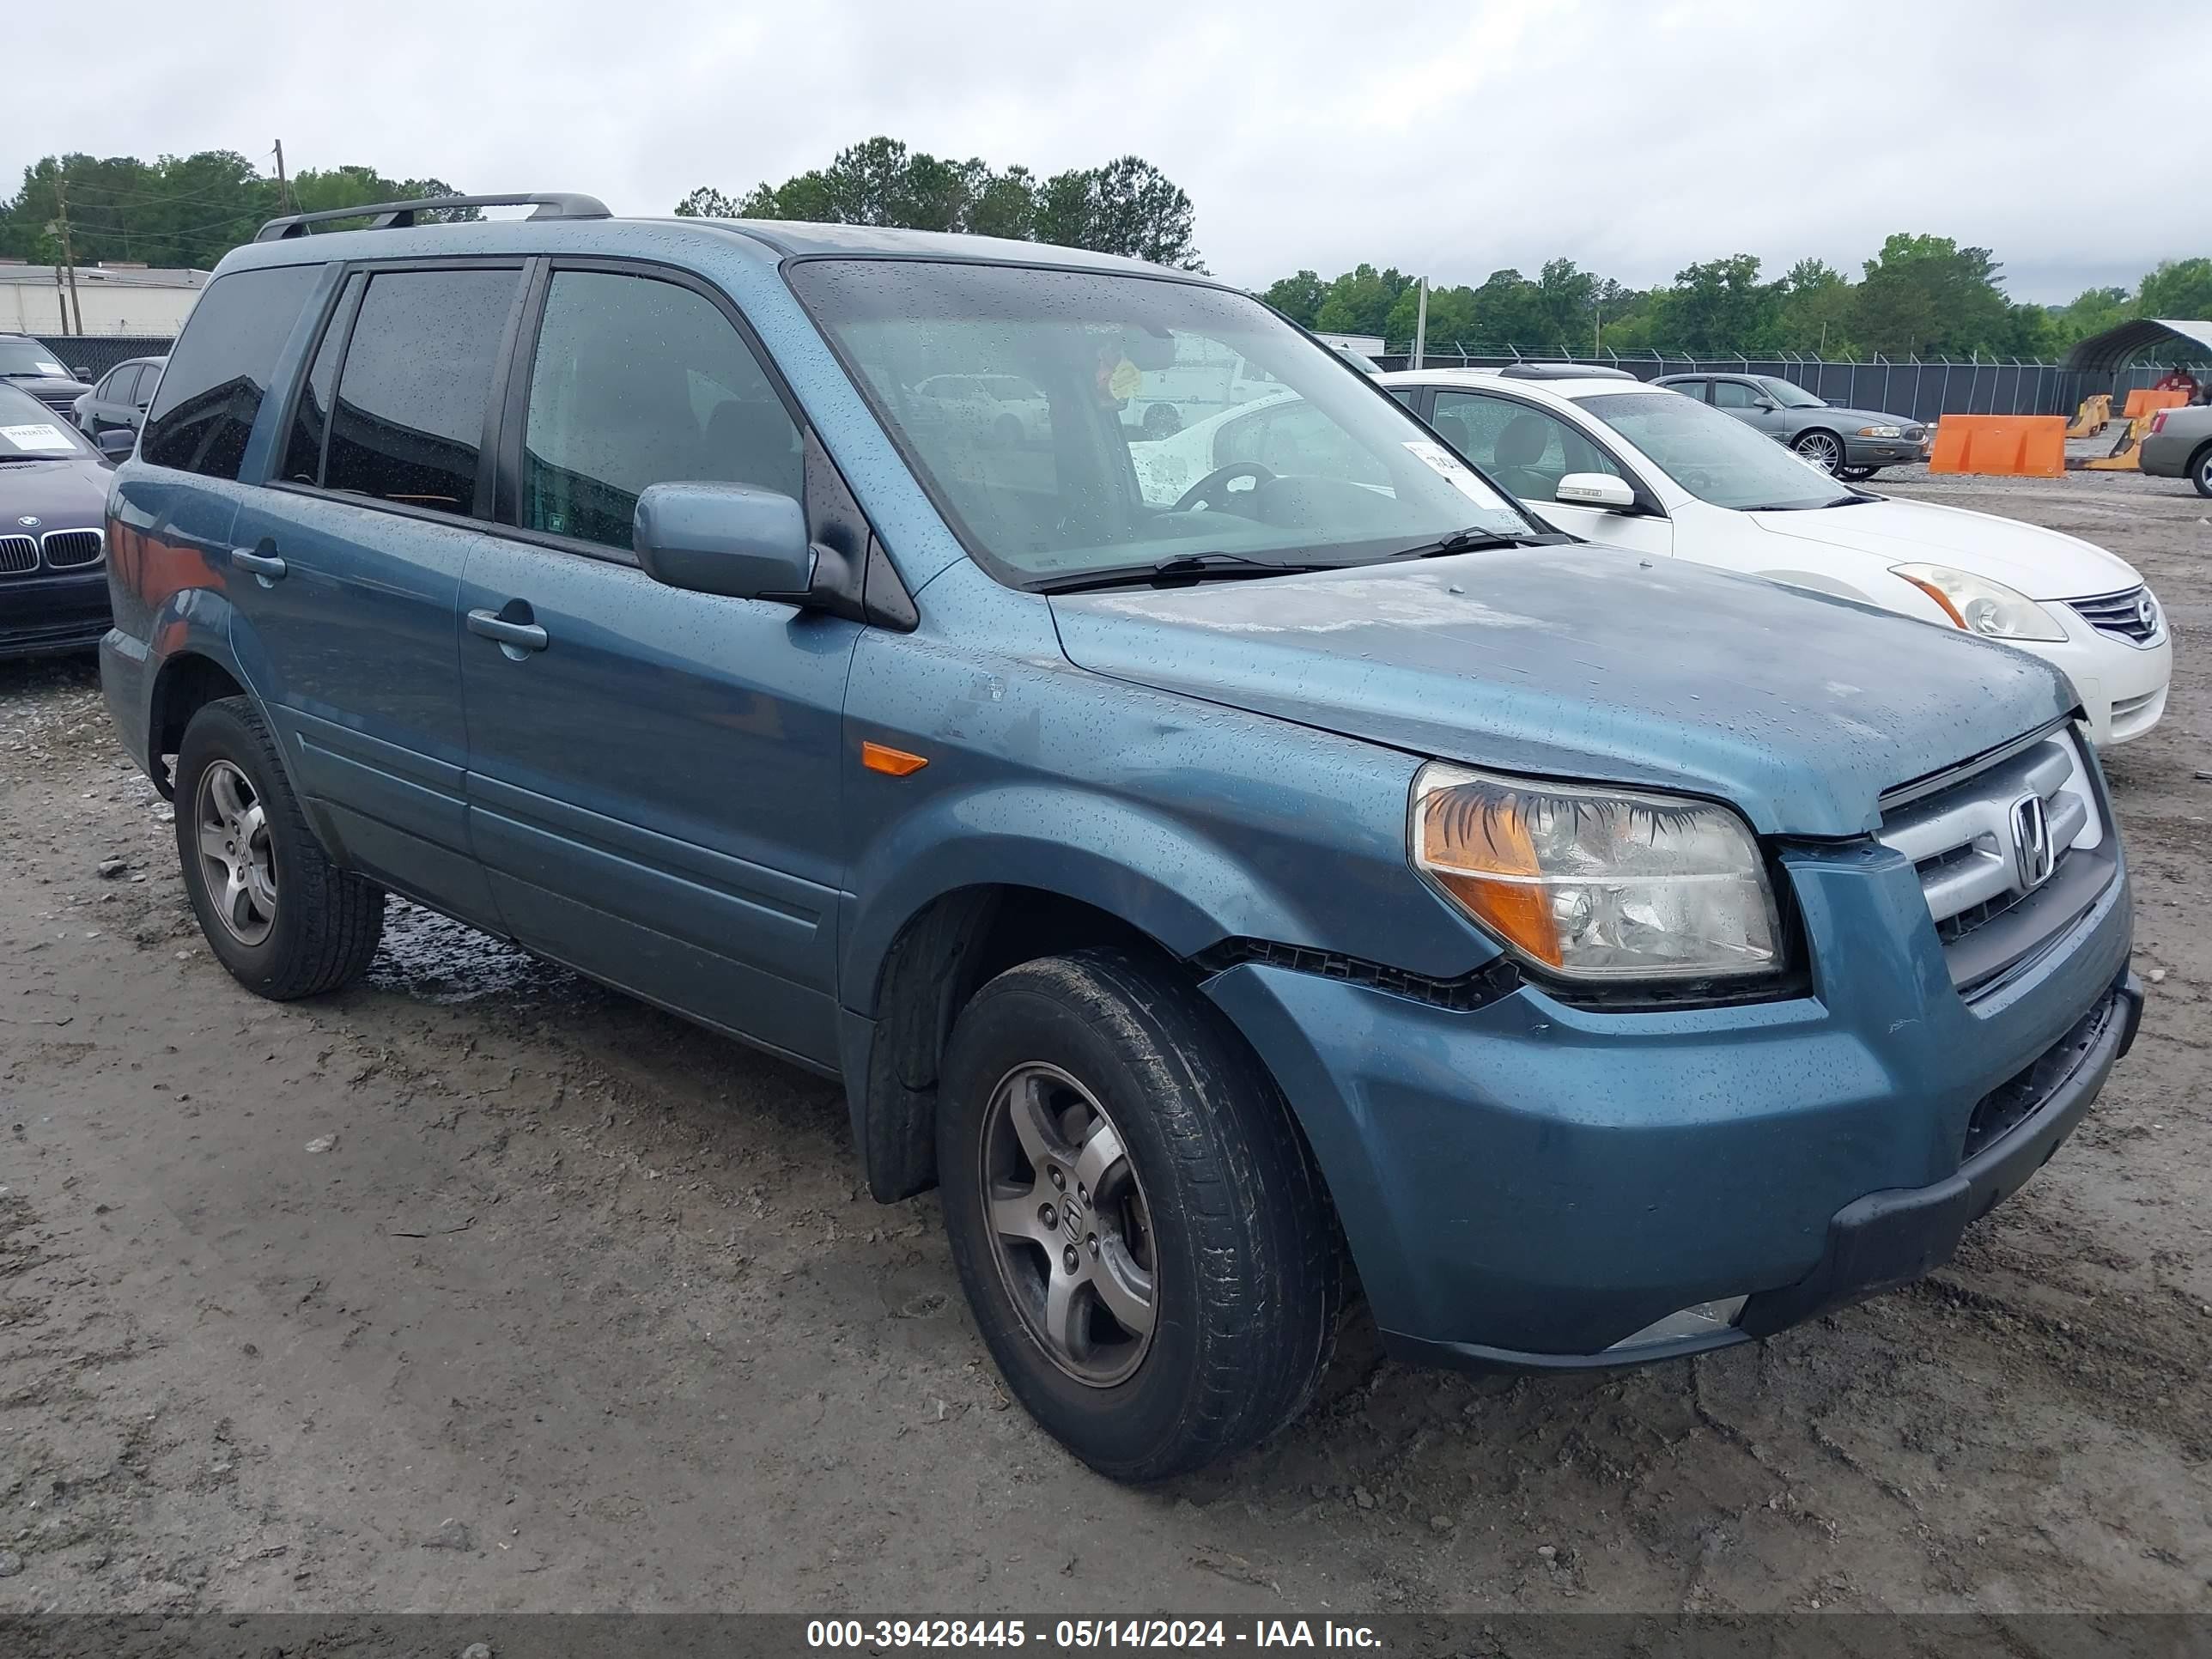
{"type": "MultiPolygon", "coordinates": [[[[518,279],[515,270],[369,276],[338,369],[325,489],[438,513],[476,511],[491,365],[518,279]]],[[[292,456],[285,476],[294,476],[292,456]]]]}

